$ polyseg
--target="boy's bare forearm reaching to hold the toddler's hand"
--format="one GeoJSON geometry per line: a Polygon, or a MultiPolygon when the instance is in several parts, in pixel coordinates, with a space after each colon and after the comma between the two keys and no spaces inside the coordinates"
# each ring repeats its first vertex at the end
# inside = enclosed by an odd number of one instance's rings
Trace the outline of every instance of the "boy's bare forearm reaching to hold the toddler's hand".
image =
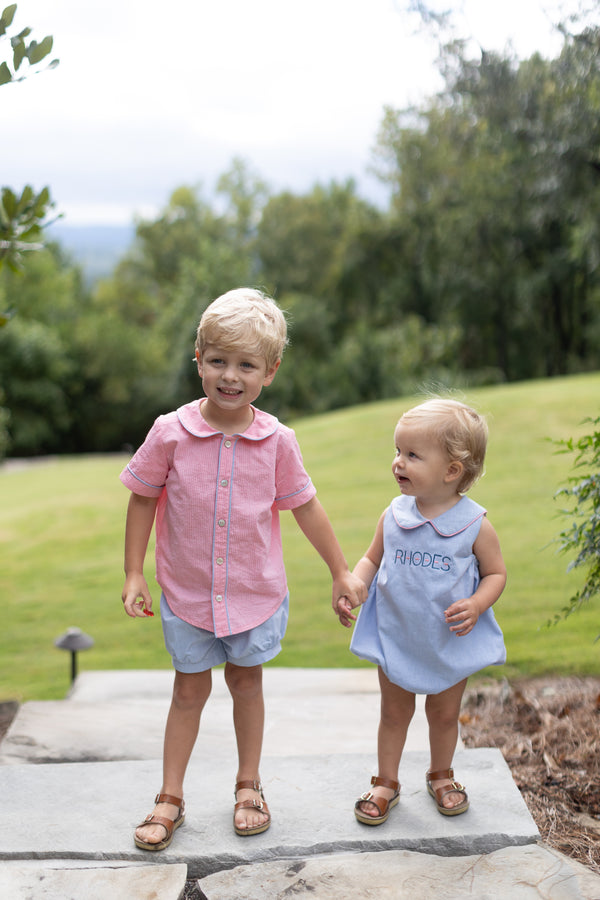
{"type": "Polygon", "coordinates": [[[364,603],[367,597],[365,584],[350,572],[331,522],[319,500],[313,497],[292,512],[300,529],[331,572],[334,609],[337,610],[336,603],[340,597],[347,597],[352,608],[364,603]]]}

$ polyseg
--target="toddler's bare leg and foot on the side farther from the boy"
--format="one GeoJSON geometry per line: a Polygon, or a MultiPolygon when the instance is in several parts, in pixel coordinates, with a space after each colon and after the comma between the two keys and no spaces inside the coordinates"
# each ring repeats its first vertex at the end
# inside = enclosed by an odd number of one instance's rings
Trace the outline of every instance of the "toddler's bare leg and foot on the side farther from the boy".
{"type": "MultiPolygon", "coordinates": [[[[439,694],[429,694],[425,700],[425,713],[429,723],[429,747],[431,761],[430,772],[449,769],[452,766],[454,751],[458,741],[458,717],[460,704],[467,686],[467,679],[459,681],[446,691],[439,694]]],[[[449,779],[440,779],[431,782],[435,789],[449,787],[449,779]]],[[[464,802],[464,794],[450,791],[443,799],[443,805],[447,809],[464,802]]]]}

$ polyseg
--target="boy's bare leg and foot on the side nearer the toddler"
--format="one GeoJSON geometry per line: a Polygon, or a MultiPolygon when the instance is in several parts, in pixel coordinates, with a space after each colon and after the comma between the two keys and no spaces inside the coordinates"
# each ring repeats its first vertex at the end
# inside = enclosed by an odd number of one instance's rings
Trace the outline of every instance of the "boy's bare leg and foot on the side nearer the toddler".
{"type": "MultiPolygon", "coordinates": [[[[265,704],[262,691],[262,666],[225,664],[225,682],[233,699],[233,725],[238,749],[237,781],[260,781],[260,756],[265,725],[265,704]]],[[[241,789],[237,801],[260,799],[257,791],[241,789]]],[[[259,809],[238,809],[235,824],[238,828],[263,825],[268,816],[259,809]]]]}

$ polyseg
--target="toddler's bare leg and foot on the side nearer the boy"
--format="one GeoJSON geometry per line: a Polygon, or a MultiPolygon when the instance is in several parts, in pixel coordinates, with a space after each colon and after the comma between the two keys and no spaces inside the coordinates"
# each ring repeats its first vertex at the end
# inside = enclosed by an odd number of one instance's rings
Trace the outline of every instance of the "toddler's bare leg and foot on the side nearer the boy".
{"type": "MultiPolygon", "coordinates": [[[[381,688],[381,715],[379,730],[377,733],[377,760],[379,765],[378,775],[382,778],[398,780],[398,769],[408,726],[415,711],[415,695],[405,691],[397,684],[393,684],[379,668],[379,685],[381,688]]],[[[394,795],[392,788],[375,785],[371,788],[374,797],[382,797],[391,800],[394,795]]],[[[363,800],[359,806],[361,812],[367,816],[380,815],[377,807],[369,800],[363,800]]]]}

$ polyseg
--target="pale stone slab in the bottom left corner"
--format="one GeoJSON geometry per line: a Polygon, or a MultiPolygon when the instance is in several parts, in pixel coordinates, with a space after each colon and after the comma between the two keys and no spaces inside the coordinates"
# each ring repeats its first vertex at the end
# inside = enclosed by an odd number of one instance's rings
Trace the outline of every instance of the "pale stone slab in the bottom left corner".
{"type": "Polygon", "coordinates": [[[53,863],[0,863],[0,897],[6,900],[179,900],[183,896],[187,866],[73,865],[53,863]]]}

